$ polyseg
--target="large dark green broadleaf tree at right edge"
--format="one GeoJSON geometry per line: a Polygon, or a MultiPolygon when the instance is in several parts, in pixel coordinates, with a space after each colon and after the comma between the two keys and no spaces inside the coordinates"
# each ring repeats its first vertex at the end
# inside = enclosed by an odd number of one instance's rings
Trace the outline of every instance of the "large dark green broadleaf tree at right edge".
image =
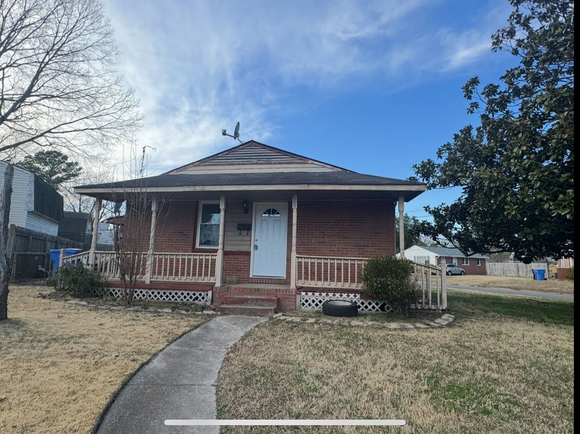
{"type": "Polygon", "coordinates": [[[463,188],[451,205],[425,208],[433,223],[422,222],[422,233],[462,251],[511,251],[525,263],[574,257],[574,3],[511,3],[492,50],[519,65],[481,92],[477,77],[467,81],[467,111],[480,125],[441,146],[443,162],[414,165],[427,189],[463,188]]]}

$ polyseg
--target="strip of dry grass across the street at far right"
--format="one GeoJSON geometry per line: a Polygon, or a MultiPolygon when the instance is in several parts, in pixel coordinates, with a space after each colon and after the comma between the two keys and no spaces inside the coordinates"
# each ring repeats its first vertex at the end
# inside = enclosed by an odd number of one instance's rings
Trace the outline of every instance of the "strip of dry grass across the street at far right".
{"type": "Polygon", "coordinates": [[[451,285],[471,285],[484,288],[510,288],[512,290],[559,292],[574,294],[572,280],[534,280],[531,277],[509,276],[448,276],[447,283],[451,285]]]}

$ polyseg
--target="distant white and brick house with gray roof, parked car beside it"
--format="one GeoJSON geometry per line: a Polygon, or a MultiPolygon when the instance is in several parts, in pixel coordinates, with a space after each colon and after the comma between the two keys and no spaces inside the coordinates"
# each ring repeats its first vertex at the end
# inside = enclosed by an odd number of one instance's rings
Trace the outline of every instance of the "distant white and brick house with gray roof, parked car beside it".
{"type": "Polygon", "coordinates": [[[414,245],[405,249],[405,258],[433,265],[441,265],[445,259],[445,263],[454,263],[464,269],[466,274],[487,274],[485,261],[489,259],[488,256],[478,254],[467,256],[456,248],[425,245],[414,245]]]}

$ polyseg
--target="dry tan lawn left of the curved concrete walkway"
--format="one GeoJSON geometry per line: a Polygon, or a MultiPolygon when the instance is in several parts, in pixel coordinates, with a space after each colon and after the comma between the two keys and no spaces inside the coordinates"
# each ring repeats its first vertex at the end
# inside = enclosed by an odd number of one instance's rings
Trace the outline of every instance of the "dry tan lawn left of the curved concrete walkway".
{"type": "Polygon", "coordinates": [[[10,287],[0,322],[0,432],[86,433],[141,364],[204,316],[113,312],[10,287]],[[115,355],[118,354],[118,355],[115,355]]]}

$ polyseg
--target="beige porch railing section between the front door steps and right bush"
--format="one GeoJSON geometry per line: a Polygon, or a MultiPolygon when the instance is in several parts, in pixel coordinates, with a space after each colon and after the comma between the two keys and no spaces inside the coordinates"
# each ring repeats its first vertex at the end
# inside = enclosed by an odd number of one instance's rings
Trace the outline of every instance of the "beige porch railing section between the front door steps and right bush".
{"type": "Polygon", "coordinates": [[[296,285],[360,289],[365,261],[362,258],[296,255],[296,285]]]}

